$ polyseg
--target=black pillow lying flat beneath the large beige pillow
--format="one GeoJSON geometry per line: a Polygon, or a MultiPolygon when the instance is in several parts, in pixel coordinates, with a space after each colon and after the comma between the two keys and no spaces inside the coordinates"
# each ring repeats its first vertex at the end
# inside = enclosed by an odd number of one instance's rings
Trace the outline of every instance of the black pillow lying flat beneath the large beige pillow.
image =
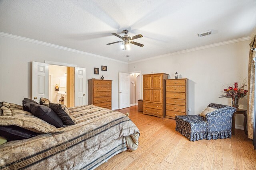
{"type": "Polygon", "coordinates": [[[10,125],[10,126],[0,126],[0,134],[5,137],[7,141],[19,140],[19,139],[28,139],[39,135],[36,132],[29,131],[22,127],[10,125]]]}

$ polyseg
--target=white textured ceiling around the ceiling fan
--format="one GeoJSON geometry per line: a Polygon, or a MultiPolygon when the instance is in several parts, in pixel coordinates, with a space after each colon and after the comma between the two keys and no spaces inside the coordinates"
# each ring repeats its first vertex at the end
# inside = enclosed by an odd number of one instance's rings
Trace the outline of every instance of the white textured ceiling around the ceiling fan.
{"type": "Polygon", "coordinates": [[[255,0],[0,1],[1,32],[126,62],[250,36],[255,25],[255,0]],[[106,45],[124,29],[144,47],[106,45]]]}

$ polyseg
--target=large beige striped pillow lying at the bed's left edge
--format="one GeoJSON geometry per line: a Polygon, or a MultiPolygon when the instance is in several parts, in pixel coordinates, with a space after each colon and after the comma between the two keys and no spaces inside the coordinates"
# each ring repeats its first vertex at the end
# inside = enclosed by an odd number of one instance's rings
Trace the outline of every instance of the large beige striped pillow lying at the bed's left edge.
{"type": "Polygon", "coordinates": [[[24,111],[20,105],[3,102],[1,109],[3,110],[3,114],[0,116],[0,125],[16,125],[36,133],[56,133],[64,131],[64,127],[56,128],[46,121],[32,115],[32,113],[24,111]]]}

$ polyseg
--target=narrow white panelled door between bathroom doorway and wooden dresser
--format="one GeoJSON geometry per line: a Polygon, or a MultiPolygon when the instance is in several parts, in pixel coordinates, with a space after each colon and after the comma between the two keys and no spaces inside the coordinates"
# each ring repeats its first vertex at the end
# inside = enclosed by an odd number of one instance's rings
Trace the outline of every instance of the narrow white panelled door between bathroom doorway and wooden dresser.
{"type": "Polygon", "coordinates": [[[85,68],[75,67],[75,106],[86,105],[85,68]]]}

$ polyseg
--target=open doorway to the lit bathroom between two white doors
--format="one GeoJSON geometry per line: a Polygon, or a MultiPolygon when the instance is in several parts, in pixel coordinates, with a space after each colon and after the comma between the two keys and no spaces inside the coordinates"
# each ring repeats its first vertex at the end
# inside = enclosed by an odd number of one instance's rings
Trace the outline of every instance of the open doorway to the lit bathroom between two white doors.
{"type": "Polygon", "coordinates": [[[74,107],[74,67],[49,64],[49,100],[74,107]]]}

